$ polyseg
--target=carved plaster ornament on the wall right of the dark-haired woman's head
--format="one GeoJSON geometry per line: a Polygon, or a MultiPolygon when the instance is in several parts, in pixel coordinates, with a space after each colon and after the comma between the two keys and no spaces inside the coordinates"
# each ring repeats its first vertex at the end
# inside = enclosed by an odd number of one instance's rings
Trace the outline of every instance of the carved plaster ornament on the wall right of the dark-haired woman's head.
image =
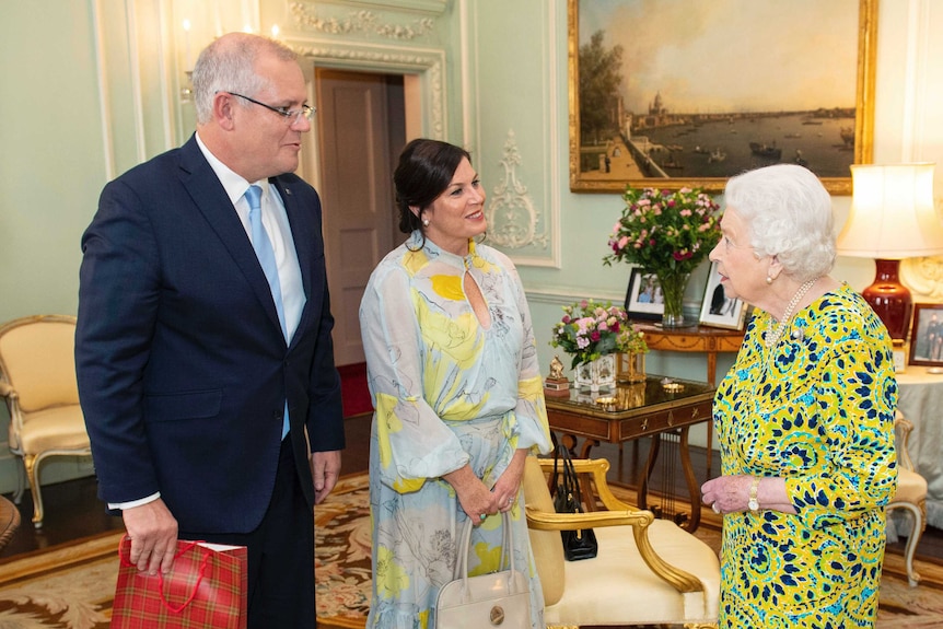
{"type": "Polygon", "coordinates": [[[488,240],[503,247],[520,249],[536,246],[546,249],[549,242],[546,224],[539,232],[540,212],[527,191],[527,186],[517,180],[516,168],[521,164],[521,152],[514,131],[508,131],[501,166],[504,177],[494,186],[488,203],[488,240]]]}

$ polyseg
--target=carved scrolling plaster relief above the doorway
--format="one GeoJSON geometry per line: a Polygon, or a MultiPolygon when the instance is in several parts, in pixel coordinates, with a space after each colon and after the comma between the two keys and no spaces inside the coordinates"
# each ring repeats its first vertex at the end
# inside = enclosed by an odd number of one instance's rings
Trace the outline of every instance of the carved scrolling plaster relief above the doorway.
{"type": "Polygon", "coordinates": [[[348,11],[341,18],[318,16],[317,9],[310,2],[292,2],[289,7],[291,19],[300,31],[311,31],[326,35],[359,35],[380,37],[397,42],[409,42],[424,37],[435,30],[435,20],[419,18],[410,22],[383,22],[383,19],[368,9],[348,11]]]}

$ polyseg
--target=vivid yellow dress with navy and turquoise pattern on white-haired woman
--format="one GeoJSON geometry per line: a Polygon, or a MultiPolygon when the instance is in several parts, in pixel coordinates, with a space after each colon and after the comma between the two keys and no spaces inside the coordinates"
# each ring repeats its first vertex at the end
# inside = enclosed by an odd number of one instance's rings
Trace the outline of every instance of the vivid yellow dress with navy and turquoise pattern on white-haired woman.
{"type": "Polygon", "coordinates": [[[713,419],[722,474],[783,477],[798,514],[724,516],[720,626],[873,627],[897,485],[890,340],[847,284],[767,350],[773,326],[757,311],[713,419]]]}

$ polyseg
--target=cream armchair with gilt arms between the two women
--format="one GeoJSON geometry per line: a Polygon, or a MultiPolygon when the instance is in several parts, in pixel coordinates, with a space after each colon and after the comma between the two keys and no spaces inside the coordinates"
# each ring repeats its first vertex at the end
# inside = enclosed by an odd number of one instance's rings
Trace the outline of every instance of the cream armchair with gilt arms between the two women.
{"type": "MultiPolygon", "coordinates": [[[[593,475],[607,511],[557,514],[545,469],[528,457],[524,497],[531,546],[544,590],[544,620],[554,627],[684,624],[715,627],[720,562],[703,541],[666,520],[620,502],[605,481],[605,459],[573,464],[593,475]],[[559,531],[590,526],[595,558],[566,561],[559,531]]],[[[552,461],[544,462],[552,468],[552,461]]]]}

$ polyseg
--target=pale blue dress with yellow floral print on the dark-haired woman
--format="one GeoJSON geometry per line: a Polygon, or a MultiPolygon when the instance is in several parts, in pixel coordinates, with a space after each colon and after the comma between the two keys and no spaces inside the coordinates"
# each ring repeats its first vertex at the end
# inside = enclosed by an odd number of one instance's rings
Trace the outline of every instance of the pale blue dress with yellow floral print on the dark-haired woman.
{"type": "MultiPolygon", "coordinates": [[[[531,315],[517,272],[500,252],[465,258],[414,232],[374,269],[360,306],[375,412],[370,441],[373,596],[370,628],[431,629],[435,598],[453,579],[456,534],[466,521],[441,477],[472,465],[491,487],[514,451],[550,450],[531,315]],[[420,248],[421,247],[421,248],[420,248]],[[414,251],[410,251],[414,249],[414,251]],[[416,251],[418,249],[418,251],[416,251]],[[477,282],[491,325],[465,298],[477,282]]],[[[544,599],[519,499],[511,512],[517,570],[531,576],[531,618],[543,629],[544,599]]],[[[472,537],[468,567],[498,569],[501,517],[472,537]]]]}

